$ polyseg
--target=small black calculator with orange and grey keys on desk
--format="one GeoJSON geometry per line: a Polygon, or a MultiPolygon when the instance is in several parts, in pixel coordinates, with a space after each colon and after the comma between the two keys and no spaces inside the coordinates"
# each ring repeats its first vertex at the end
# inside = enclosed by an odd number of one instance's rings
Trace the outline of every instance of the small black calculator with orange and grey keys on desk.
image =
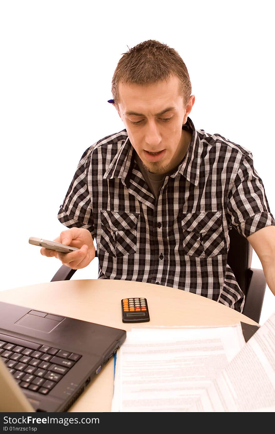
{"type": "Polygon", "coordinates": [[[146,298],[129,298],[121,300],[122,322],[150,321],[146,298]]]}

